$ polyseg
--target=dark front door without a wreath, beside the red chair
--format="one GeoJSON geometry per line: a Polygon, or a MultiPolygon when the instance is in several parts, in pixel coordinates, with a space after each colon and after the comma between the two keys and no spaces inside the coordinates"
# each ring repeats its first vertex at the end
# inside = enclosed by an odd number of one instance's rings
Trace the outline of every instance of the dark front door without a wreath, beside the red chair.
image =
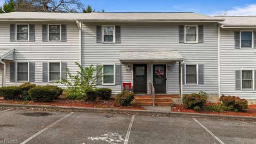
{"type": "Polygon", "coordinates": [[[133,92],[147,93],[147,64],[133,65],[133,92]]]}

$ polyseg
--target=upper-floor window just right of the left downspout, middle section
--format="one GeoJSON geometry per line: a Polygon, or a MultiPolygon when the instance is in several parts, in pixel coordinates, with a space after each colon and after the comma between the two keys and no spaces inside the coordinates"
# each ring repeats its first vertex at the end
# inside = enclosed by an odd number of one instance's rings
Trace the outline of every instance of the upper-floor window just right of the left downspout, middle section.
{"type": "Polygon", "coordinates": [[[102,42],[115,43],[115,26],[102,26],[102,42]]]}

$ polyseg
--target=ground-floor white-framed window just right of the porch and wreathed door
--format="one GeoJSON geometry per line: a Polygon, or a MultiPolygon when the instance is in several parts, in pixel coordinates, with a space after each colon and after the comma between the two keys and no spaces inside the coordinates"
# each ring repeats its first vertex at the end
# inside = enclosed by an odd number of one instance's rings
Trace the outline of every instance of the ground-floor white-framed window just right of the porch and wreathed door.
{"type": "Polygon", "coordinates": [[[197,65],[185,65],[186,84],[197,84],[197,65]]]}

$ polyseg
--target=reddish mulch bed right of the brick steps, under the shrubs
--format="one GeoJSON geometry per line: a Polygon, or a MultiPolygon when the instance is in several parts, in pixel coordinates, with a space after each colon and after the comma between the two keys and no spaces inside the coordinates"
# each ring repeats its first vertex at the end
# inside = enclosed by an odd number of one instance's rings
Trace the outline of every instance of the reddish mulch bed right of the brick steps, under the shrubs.
{"type": "Polygon", "coordinates": [[[172,111],[184,112],[184,113],[215,114],[215,115],[256,116],[256,105],[249,105],[249,109],[242,112],[225,111],[225,112],[218,113],[214,111],[196,111],[193,109],[186,109],[182,105],[174,105],[172,107],[172,111]]]}

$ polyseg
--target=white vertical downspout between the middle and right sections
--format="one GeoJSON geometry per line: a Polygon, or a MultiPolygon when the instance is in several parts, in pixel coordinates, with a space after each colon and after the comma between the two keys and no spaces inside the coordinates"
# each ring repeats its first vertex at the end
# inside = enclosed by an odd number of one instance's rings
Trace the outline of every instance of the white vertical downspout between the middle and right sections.
{"type": "Polygon", "coordinates": [[[219,95],[219,99],[220,99],[220,27],[222,26],[218,26],[218,95],[219,95]]]}

